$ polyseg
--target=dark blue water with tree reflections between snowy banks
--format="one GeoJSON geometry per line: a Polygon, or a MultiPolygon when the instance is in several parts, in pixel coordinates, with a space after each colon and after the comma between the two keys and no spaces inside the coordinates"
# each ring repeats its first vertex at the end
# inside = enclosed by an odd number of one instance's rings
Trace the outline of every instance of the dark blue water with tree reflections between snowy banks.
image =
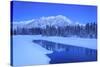
{"type": "Polygon", "coordinates": [[[47,50],[53,51],[47,56],[51,59],[50,64],[96,61],[97,50],[84,47],[77,47],[68,44],[60,44],[45,40],[33,40],[47,50]]]}

